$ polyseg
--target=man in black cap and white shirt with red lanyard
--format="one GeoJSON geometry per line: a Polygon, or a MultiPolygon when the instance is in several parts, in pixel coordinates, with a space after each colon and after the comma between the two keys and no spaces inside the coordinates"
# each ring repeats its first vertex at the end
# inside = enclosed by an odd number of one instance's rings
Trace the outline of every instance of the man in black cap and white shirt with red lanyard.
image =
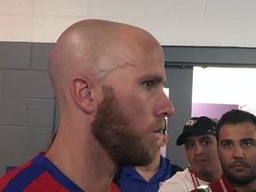
{"type": "Polygon", "coordinates": [[[165,180],[159,192],[190,192],[221,177],[217,152],[216,123],[207,116],[192,117],[176,140],[184,145],[189,166],[165,180]]]}

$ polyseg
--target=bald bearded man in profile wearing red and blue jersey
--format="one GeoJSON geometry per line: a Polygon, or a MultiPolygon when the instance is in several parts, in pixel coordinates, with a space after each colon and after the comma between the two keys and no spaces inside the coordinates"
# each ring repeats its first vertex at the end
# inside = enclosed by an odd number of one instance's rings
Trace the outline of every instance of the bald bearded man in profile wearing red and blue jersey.
{"type": "Polygon", "coordinates": [[[153,161],[164,116],[174,112],[153,36],[123,23],[79,21],[55,44],[49,75],[60,108],[56,138],[4,175],[0,191],[107,192],[119,167],[153,161]]]}

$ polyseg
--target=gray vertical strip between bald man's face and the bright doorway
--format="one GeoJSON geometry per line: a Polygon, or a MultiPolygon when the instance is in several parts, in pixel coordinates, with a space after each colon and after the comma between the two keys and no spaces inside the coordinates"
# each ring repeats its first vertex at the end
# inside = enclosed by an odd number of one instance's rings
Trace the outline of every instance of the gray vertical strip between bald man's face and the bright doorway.
{"type": "Polygon", "coordinates": [[[188,166],[183,149],[176,146],[176,138],[180,135],[183,125],[191,116],[193,68],[165,67],[166,86],[170,88],[170,99],[175,108],[173,116],[168,118],[168,133],[166,156],[175,164],[185,168],[188,166]]]}

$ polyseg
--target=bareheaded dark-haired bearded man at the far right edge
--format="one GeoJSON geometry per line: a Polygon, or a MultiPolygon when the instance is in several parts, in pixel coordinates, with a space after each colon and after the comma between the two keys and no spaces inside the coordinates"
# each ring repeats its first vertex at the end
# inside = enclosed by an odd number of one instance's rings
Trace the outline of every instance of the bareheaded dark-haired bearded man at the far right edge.
{"type": "Polygon", "coordinates": [[[224,174],[212,192],[256,191],[256,116],[232,109],[217,124],[218,152],[224,174]]]}

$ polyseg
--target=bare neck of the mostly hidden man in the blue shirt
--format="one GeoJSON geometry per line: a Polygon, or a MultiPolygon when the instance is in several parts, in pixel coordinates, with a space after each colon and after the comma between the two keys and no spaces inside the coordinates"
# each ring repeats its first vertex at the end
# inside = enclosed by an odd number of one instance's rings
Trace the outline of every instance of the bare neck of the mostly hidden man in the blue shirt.
{"type": "Polygon", "coordinates": [[[135,166],[135,170],[147,181],[149,181],[160,167],[160,154],[156,155],[156,158],[151,164],[145,166],[135,166]]]}

